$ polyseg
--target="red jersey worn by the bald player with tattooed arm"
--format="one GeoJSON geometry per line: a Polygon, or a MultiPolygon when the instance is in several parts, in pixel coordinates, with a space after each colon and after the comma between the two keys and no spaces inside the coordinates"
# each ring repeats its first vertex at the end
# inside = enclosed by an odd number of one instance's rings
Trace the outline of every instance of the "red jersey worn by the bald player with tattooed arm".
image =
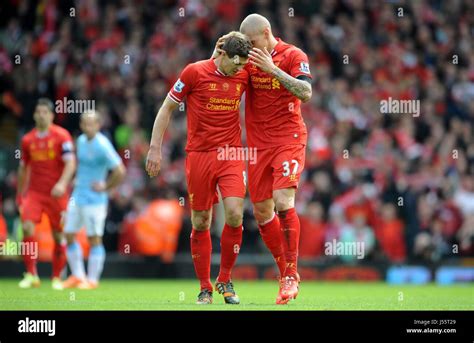
{"type": "MultiPolygon", "coordinates": [[[[273,63],[293,77],[311,77],[306,54],[279,38],[277,40],[278,44],[271,52],[273,63]]],[[[301,100],[275,77],[256,66],[249,63],[245,69],[250,74],[245,99],[247,144],[259,149],[306,145],[308,134],[301,116],[301,100]]]]}

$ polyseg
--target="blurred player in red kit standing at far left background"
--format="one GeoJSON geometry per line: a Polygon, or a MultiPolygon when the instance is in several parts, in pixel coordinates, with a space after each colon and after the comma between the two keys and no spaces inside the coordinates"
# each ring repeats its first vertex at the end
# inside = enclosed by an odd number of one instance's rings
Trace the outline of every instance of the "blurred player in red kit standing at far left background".
{"type": "MultiPolygon", "coordinates": [[[[36,127],[21,141],[17,204],[26,244],[35,244],[33,232],[42,213],[49,217],[55,241],[52,287],[60,290],[60,273],[66,265],[62,216],[69,199],[68,186],[74,175],[75,158],[71,135],[53,124],[53,111],[49,99],[39,99],[33,115],[36,127]]],[[[31,254],[23,255],[26,273],[19,283],[21,288],[40,286],[36,258],[31,254]]]]}

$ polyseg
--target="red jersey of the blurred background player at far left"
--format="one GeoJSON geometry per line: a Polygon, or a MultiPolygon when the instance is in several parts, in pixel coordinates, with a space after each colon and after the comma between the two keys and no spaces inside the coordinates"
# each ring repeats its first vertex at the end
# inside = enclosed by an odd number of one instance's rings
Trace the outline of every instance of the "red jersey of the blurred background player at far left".
{"type": "Polygon", "coordinates": [[[53,124],[45,133],[36,128],[27,133],[21,140],[21,161],[31,168],[28,191],[49,195],[63,172],[64,154],[72,152],[71,135],[60,126],[53,124]]]}

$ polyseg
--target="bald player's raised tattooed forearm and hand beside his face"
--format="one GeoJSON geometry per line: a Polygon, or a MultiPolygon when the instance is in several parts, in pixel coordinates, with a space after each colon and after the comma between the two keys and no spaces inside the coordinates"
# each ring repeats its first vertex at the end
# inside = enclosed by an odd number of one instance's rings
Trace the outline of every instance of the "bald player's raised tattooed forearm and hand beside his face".
{"type": "Polygon", "coordinates": [[[263,51],[253,48],[250,51],[250,62],[262,71],[273,75],[280,83],[294,96],[303,102],[309,101],[312,95],[311,84],[307,81],[309,78],[297,79],[278,68],[272,60],[272,56],[264,49],[263,51]]]}

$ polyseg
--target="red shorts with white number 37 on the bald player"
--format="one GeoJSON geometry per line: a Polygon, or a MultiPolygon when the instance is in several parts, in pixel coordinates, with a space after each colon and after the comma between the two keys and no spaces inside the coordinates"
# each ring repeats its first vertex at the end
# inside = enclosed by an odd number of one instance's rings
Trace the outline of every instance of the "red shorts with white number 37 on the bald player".
{"type": "Polygon", "coordinates": [[[284,145],[257,150],[249,162],[249,193],[253,203],[273,198],[276,189],[298,188],[304,169],[306,146],[284,145]]]}

